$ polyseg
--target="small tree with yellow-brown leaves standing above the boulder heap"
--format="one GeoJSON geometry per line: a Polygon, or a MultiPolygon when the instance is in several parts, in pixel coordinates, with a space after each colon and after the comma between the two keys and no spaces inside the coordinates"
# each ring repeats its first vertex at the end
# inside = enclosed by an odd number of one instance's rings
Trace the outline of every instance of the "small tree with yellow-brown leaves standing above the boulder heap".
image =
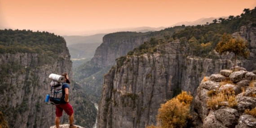
{"type": "Polygon", "coordinates": [[[230,34],[226,33],[222,35],[221,41],[217,44],[215,50],[220,54],[234,53],[234,66],[236,66],[237,56],[247,58],[250,53],[247,41],[243,40],[241,37],[233,38],[230,34]]]}

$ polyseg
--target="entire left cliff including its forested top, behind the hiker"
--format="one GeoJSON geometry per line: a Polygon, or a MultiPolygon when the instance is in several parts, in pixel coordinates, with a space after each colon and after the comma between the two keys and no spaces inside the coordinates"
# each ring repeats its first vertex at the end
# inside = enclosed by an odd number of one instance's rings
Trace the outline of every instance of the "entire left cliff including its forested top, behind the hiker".
{"type": "MultiPolygon", "coordinates": [[[[72,62],[65,40],[48,32],[26,30],[1,30],[0,36],[0,111],[10,128],[49,128],[55,124],[55,106],[44,102],[50,90],[48,76],[68,72],[72,80],[72,62]]],[[[75,111],[82,109],[94,118],[96,109],[87,110],[81,105],[93,106],[74,83],[70,84],[71,105],[75,111]]],[[[75,114],[77,122],[83,116],[75,114]]],[[[68,122],[66,115],[61,119],[61,123],[68,122]]],[[[95,119],[90,120],[88,126],[94,122],[95,119]]]]}

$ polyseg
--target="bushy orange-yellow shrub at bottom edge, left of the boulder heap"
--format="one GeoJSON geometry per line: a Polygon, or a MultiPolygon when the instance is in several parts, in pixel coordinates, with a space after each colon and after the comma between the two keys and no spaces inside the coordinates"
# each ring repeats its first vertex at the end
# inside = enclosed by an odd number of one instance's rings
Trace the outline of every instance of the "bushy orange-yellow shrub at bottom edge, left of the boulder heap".
{"type": "Polygon", "coordinates": [[[190,115],[192,100],[191,95],[182,91],[177,97],[162,104],[157,115],[161,128],[185,128],[192,119],[190,115]]]}

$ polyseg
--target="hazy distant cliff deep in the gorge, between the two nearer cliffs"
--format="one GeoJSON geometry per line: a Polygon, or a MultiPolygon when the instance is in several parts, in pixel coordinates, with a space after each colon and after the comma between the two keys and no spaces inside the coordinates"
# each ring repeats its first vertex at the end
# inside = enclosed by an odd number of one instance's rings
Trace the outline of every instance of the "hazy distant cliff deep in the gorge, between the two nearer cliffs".
{"type": "Polygon", "coordinates": [[[115,59],[126,55],[130,50],[143,44],[149,37],[147,33],[117,32],[103,37],[103,43],[96,49],[91,61],[74,71],[75,79],[85,87],[85,93],[93,102],[101,95],[103,75],[115,65],[115,59]]]}

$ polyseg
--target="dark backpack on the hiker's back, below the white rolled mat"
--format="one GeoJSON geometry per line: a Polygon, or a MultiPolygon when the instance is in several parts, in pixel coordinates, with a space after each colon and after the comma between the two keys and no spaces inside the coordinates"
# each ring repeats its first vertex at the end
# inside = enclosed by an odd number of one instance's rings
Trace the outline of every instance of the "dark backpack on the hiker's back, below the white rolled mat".
{"type": "Polygon", "coordinates": [[[50,103],[53,105],[59,105],[64,99],[64,95],[62,94],[62,83],[52,80],[50,87],[50,103]]]}

